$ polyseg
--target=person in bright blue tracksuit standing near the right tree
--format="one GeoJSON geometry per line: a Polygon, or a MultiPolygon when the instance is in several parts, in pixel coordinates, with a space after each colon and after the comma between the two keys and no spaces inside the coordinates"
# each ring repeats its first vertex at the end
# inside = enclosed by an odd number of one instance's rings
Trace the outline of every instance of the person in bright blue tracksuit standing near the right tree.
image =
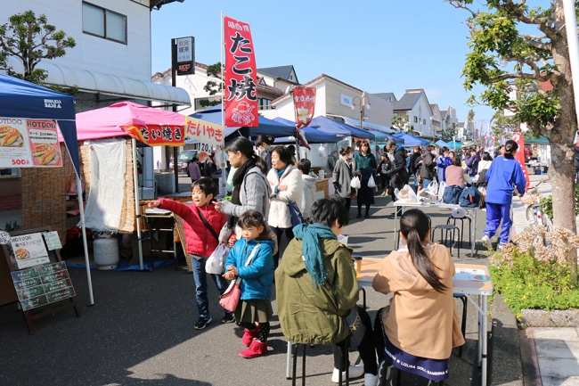
{"type": "Polygon", "coordinates": [[[491,238],[496,233],[502,220],[499,248],[509,242],[510,204],[512,201],[513,185],[517,186],[519,194],[525,194],[526,179],[523,169],[515,160],[518,144],[509,140],[505,144],[502,157],[493,160],[491,167],[486,171],[486,227],[481,242],[486,248],[491,247],[491,238]]]}

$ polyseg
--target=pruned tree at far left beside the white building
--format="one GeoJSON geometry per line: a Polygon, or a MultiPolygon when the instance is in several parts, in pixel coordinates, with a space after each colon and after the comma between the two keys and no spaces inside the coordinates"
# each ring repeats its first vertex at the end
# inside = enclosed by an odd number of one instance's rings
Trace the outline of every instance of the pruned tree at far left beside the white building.
{"type": "MultiPolygon", "coordinates": [[[[66,48],[77,45],[64,31],[48,24],[44,14],[37,18],[29,10],[12,15],[8,21],[0,26],[0,68],[6,69],[11,77],[42,84],[48,77],[48,71],[37,69],[37,64],[43,59],[60,58],[66,54],[66,48]],[[23,74],[7,65],[10,56],[20,59],[23,74]]],[[[61,91],[61,87],[56,88],[61,91]]]]}

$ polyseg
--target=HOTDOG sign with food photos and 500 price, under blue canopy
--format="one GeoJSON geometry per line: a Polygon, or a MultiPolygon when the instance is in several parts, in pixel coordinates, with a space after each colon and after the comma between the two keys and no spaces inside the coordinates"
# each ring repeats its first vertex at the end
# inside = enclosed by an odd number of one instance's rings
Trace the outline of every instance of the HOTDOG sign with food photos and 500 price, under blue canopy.
{"type": "Polygon", "coordinates": [[[0,118],[0,168],[61,167],[57,127],[54,120],[0,118]]]}

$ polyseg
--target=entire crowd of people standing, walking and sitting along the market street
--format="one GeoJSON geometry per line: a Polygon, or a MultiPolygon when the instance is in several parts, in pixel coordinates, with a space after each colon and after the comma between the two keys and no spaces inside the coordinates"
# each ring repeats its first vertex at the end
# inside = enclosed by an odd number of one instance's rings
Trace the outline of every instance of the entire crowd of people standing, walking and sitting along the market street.
{"type": "MultiPolygon", "coordinates": [[[[401,209],[399,250],[382,261],[372,286],[376,292],[394,293],[371,321],[365,309],[356,306],[359,288],[352,250],[338,242],[352,218],[353,196],[357,218],[369,217],[374,204],[371,181],[381,186],[381,195],[396,201],[396,189],[411,177],[416,189],[426,189],[434,180],[446,185],[482,181],[493,186],[486,195],[487,226],[483,242],[502,222],[500,245],[508,241],[510,200],[513,185],[525,192],[525,178],[516,160],[518,145],[507,141],[502,155],[494,160],[487,152],[468,149],[458,154],[428,145],[406,152],[404,146],[388,142],[380,161],[370,144],[356,144],[357,152],[346,146],[328,156],[325,169],[335,185],[335,195],[314,201],[316,178],[310,176],[311,162],[297,161],[292,149],[273,145],[273,138],[260,136],[257,155],[253,144],[243,137],[226,148],[231,164],[228,188],[230,201],[216,201],[217,185],[201,177],[192,167],[192,205],[159,199],[148,201],[151,208],[168,209],[183,218],[186,252],[192,258],[196,286],[197,330],[212,322],[208,302],[206,262],[217,246],[229,248],[224,273],[210,275],[223,294],[229,280],[241,291],[237,308],[224,310],[223,324],[235,322],[244,329],[241,357],[267,353],[275,291],[281,331],[289,341],[304,344],[333,344],[332,382],[338,382],[339,368],[349,366],[351,378],[364,377],[364,385],[390,384],[395,367],[418,374],[430,382],[448,377],[453,347],[464,344],[453,301],[453,259],[449,251],[430,240],[427,216],[419,209],[401,209]],[[360,184],[352,187],[358,177],[360,184]],[[292,223],[290,202],[296,202],[306,221],[292,223]],[[281,253],[280,240],[290,241],[281,253]],[[436,333],[430,333],[436,327],[436,333]],[[352,339],[363,365],[351,365],[340,354],[352,339]]],[[[430,384],[430,383],[429,383],[430,384]]]]}

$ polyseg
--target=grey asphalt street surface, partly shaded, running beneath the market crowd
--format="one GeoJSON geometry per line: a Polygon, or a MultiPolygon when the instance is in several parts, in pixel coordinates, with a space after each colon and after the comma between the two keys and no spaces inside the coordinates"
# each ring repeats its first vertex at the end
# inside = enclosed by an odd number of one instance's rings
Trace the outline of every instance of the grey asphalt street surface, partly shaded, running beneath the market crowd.
{"type": "MultiPolygon", "coordinates": [[[[366,257],[385,256],[392,248],[393,220],[386,219],[388,199],[377,198],[371,218],[354,220],[344,234],[355,252],[366,257]]],[[[449,212],[429,210],[433,223],[449,212]]],[[[355,214],[354,209],[352,213],[355,214]]],[[[479,232],[484,226],[479,217],[479,232]]],[[[456,259],[486,264],[476,258],[456,259]]],[[[0,308],[1,385],[290,385],[285,378],[286,341],[277,319],[273,320],[269,353],[244,359],[242,330],[219,324],[215,286],[209,284],[211,309],[216,319],[203,331],[195,331],[197,319],[191,274],[162,267],[153,272],[93,271],[94,307],[87,307],[86,275],[71,268],[82,317],[68,310],[34,322],[29,336],[20,311],[14,305],[0,308]]],[[[387,297],[368,292],[371,316],[387,304],[387,297]]],[[[275,307],[275,302],[273,301],[275,307]]],[[[499,304],[500,306],[500,304],[499,304]]],[[[458,306],[461,313],[461,305],[458,306]]],[[[451,376],[445,385],[478,385],[480,373],[473,366],[477,344],[477,316],[469,306],[467,345],[462,357],[451,357],[451,376]]],[[[504,308],[493,308],[492,384],[522,385],[516,325],[504,308]],[[493,338],[494,339],[494,338],[493,338]],[[499,344],[500,343],[500,344],[499,344]]],[[[330,385],[330,347],[309,350],[306,363],[308,385],[330,385]]],[[[355,360],[355,353],[351,359],[355,360]]],[[[423,381],[423,380],[422,380],[423,381]]],[[[351,384],[361,385],[363,380],[351,384]]],[[[423,384],[405,374],[403,385],[423,384]]]]}

